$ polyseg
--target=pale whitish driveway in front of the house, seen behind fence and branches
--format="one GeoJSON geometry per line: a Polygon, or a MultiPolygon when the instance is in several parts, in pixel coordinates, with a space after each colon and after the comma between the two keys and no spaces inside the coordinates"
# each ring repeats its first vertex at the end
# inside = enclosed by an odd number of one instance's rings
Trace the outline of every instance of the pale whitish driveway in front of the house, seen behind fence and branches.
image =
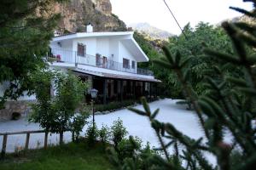
{"type": "MultiPolygon", "coordinates": [[[[176,105],[177,100],[162,99],[150,103],[152,111],[160,108],[160,114],[156,117],[161,122],[171,122],[177,129],[191,138],[199,139],[203,136],[201,127],[194,111],[187,111],[184,105],[176,105]]],[[[136,106],[137,109],[143,109],[142,105],[136,106]]],[[[137,136],[143,140],[143,144],[147,142],[151,146],[158,147],[159,143],[154,135],[154,131],[145,116],[139,116],[136,113],[128,111],[127,109],[114,111],[108,115],[96,116],[97,127],[102,127],[102,124],[111,127],[113,121],[120,118],[130,135],[137,136]]],[[[19,121],[0,122],[0,132],[15,132],[24,130],[38,130],[40,129],[37,123],[29,123],[25,118],[19,121]]],[[[84,127],[82,135],[84,135],[86,126],[84,127]]],[[[52,134],[49,136],[49,144],[58,144],[59,136],[52,134]]],[[[13,152],[16,146],[24,146],[26,135],[12,135],[8,137],[7,152],[13,152]]],[[[71,141],[71,133],[64,134],[65,142],[71,141]]],[[[230,141],[230,138],[227,138],[230,141]]],[[[0,148],[2,148],[3,137],[0,137],[0,148]]],[[[39,148],[44,144],[44,134],[32,134],[29,148],[39,148]]],[[[170,150],[172,151],[172,150],[170,150]]],[[[208,159],[215,163],[212,156],[207,155],[208,159]]]]}

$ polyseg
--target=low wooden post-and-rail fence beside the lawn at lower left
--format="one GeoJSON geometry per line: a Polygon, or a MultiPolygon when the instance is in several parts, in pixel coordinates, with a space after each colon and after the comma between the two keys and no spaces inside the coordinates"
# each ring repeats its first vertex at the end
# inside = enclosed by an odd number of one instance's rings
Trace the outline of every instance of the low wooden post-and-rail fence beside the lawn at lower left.
{"type": "Polygon", "coordinates": [[[1,151],[1,157],[5,156],[7,139],[8,139],[9,135],[26,134],[26,143],[25,143],[25,148],[24,149],[28,150],[30,134],[32,134],[32,133],[44,133],[44,149],[46,149],[47,148],[47,143],[48,143],[48,134],[49,133],[45,132],[44,130],[21,131],[21,132],[13,132],[13,133],[0,133],[0,136],[3,136],[3,146],[2,146],[2,151],[1,151]]]}

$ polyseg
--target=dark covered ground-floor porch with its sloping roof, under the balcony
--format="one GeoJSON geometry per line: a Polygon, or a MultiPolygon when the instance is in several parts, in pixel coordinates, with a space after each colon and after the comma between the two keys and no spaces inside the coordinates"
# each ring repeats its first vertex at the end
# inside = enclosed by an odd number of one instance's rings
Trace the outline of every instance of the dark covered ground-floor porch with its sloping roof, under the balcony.
{"type": "MultiPolygon", "coordinates": [[[[90,82],[90,88],[96,88],[98,95],[96,103],[108,104],[113,101],[137,100],[145,96],[148,100],[160,96],[157,79],[145,77],[127,77],[116,74],[96,74],[91,72],[74,71],[82,80],[90,82]]],[[[90,95],[86,96],[90,101],[90,95]]]]}

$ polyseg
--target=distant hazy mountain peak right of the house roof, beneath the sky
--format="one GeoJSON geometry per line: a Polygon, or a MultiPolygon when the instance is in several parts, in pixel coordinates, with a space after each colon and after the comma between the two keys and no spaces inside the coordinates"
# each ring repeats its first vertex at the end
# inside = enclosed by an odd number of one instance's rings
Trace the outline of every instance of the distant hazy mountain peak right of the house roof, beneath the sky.
{"type": "Polygon", "coordinates": [[[160,30],[154,26],[150,26],[148,23],[131,24],[130,27],[132,27],[133,30],[148,35],[152,39],[166,40],[168,37],[174,36],[174,34],[160,30]]]}

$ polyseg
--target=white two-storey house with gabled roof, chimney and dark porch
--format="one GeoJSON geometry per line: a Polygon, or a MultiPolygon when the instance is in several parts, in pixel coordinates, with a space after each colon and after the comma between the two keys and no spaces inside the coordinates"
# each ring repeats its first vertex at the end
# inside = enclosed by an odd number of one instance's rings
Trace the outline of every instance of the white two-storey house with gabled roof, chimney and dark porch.
{"type": "MultiPolygon", "coordinates": [[[[160,81],[152,71],[137,67],[138,62],[148,62],[148,57],[134,40],[132,31],[93,32],[93,27],[87,26],[86,32],[56,35],[49,48],[50,68],[71,70],[82,80],[92,82],[91,88],[99,90],[100,103],[156,95],[156,83],[152,82],[160,81]]],[[[8,84],[0,86],[0,95],[8,84]]],[[[35,95],[25,93],[19,101],[34,99],[35,95]]],[[[12,111],[15,110],[9,110],[12,111]]]]}

